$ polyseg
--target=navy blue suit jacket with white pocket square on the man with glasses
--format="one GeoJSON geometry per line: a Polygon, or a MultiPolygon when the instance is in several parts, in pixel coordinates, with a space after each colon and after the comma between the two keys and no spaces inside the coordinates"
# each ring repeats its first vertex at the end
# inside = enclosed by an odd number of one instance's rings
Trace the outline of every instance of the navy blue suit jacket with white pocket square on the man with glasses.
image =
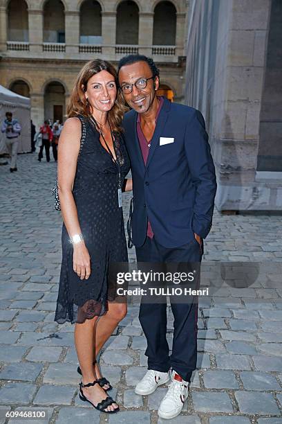
{"type": "Polygon", "coordinates": [[[207,237],[212,227],[216,175],[202,114],[185,105],[164,103],[146,166],[138,140],[134,110],[124,116],[124,138],[133,177],[132,240],[142,246],[151,222],[156,240],[178,247],[207,237]],[[173,143],[160,145],[160,137],[173,143]]]}

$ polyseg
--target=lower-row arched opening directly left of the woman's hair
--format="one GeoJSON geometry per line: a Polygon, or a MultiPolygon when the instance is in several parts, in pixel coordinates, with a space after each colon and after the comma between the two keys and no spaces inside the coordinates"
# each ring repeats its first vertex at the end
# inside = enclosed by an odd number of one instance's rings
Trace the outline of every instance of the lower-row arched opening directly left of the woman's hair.
{"type": "Polygon", "coordinates": [[[65,114],[65,89],[57,81],[49,82],[44,93],[44,119],[55,122],[64,121],[65,114]]]}

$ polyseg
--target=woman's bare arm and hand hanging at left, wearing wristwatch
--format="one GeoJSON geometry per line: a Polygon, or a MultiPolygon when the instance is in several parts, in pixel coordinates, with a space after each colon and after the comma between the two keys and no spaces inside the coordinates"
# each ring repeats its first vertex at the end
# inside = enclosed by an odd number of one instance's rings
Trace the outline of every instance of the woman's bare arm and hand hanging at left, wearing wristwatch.
{"type": "MultiPolygon", "coordinates": [[[[58,146],[59,201],[64,224],[70,238],[82,232],[73,198],[73,183],[82,134],[81,126],[78,118],[68,118],[59,137],[58,146]]],[[[84,240],[73,245],[73,270],[80,276],[80,279],[88,279],[91,274],[90,256],[84,240]]]]}

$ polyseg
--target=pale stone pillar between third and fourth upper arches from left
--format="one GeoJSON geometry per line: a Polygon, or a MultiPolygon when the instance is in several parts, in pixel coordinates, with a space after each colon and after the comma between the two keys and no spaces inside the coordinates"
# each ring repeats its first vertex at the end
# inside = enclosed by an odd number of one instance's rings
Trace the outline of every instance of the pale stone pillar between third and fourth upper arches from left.
{"type": "Polygon", "coordinates": [[[102,12],[102,54],[115,57],[116,12],[102,12]]]}

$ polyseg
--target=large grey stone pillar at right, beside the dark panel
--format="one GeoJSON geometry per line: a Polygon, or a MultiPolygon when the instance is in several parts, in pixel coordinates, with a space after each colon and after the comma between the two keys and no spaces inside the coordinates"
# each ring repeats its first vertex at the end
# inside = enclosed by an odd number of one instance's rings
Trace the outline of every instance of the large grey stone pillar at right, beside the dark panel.
{"type": "Polygon", "coordinates": [[[245,0],[220,3],[212,108],[212,113],[215,107],[218,110],[213,132],[220,211],[281,208],[276,204],[277,186],[256,180],[271,4],[264,0],[257,0],[255,6],[245,0]]]}

